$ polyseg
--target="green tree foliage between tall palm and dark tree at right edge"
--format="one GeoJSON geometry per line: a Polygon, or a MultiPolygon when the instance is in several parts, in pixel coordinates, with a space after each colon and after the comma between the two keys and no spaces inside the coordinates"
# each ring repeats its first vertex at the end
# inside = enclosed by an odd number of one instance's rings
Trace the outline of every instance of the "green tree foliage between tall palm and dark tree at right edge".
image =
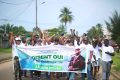
{"type": "Polygon", "coordinates": [[[102,25],[97,24],[96,26],[93,26],[91,29],[88,30],[87,35],[90,39],[97,36],[103,36],[102,25]]]}

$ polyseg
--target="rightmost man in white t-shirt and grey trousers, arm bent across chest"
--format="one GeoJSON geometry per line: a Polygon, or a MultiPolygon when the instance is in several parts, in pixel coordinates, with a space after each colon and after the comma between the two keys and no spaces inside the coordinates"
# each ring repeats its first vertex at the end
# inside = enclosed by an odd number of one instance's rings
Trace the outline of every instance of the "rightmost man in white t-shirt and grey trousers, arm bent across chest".
{"type": "Polygon", "coordinates": [[[112,56],[114,56],[114,49],[109,46],[109,40],[105,39],[102,46],[102,80],[109,80],[112,56]]]}

